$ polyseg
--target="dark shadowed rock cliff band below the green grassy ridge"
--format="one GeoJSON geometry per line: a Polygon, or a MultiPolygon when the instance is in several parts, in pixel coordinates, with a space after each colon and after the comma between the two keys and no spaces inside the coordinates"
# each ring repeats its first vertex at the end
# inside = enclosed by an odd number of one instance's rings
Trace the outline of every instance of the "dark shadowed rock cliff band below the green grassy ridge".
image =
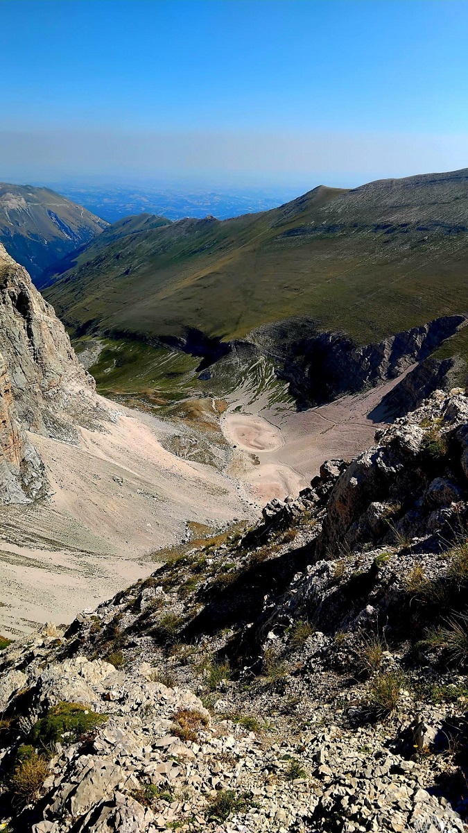
{"type": "MultiPolygon", "coordinates": [[[[248,339],[231,342],[225,356],[207,350],[203,354],[206,361],[199,369],[203,370],[202,379],[212,378],[213,383],[235,390],[266,360],[277,379],[287,383],[298,407],[315,407],[394,379],[416,362],[424,364],[465,322],[465,315],[436,318],[382,342],[359,347],[341,332],[320,332],[313,319],[291,318],[259,327],[248,339]],[[204,369],[210,362],[215,363],[204,369]]],[[[184,349],[192,352],[188,340],[184,349]]],[[[202,355],[202,347],[200,350],[198,355],[202,355]]],[[[387,416],[401,416],[437,387],[448,385],[454,365],[453,358],[432,358],[427,367],[416,368],[395,396],[383,403],[387,416]]]]}

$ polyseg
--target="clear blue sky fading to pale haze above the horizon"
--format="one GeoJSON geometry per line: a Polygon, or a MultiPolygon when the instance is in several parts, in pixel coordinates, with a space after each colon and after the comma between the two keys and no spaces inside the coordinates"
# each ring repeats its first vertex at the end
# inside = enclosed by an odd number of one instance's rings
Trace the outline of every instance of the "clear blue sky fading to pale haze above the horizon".
{"type": "Polygon", "coordinates": [[[468,167],[466,0],[0,0],[0,178],[468,167]]]}

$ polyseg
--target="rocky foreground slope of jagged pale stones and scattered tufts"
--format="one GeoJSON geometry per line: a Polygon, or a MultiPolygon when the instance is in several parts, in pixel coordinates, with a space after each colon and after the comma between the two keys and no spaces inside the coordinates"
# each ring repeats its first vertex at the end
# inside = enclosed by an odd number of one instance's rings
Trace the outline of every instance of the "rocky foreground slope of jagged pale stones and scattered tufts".
{"type": "Polygon", "coordinates": [[[11,831],[466,831],[468,398],[2,652],[11,831]]]}

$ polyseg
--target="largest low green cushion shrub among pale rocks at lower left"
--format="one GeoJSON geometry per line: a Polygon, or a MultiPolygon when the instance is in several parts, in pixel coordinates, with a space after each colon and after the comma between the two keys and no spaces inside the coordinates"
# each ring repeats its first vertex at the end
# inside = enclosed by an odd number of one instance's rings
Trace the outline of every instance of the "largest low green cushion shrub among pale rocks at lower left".
{"type": "Polygon", "coordinates": [[[97,714],[80,703],[62,702],[52,706],[47,715],[32,726],[30,737],[34,746],[50,749],[57,741],[62,741],[63,735],[74,743],[104,721],[107,721],[107,716],[97,714]]]}

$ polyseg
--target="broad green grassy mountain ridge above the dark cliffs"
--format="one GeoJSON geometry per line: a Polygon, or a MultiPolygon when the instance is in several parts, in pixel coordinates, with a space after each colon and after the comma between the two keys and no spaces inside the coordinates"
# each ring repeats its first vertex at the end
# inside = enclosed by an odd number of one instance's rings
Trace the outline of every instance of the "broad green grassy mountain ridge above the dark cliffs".
{"type": "Polygon", "coordinates": [[[47,289],[69,326],[231,339],[306,315],[364,344],[468,309],[468,169],[318,187],[225,221],[148,222],[117,223],[47,289]]]}

